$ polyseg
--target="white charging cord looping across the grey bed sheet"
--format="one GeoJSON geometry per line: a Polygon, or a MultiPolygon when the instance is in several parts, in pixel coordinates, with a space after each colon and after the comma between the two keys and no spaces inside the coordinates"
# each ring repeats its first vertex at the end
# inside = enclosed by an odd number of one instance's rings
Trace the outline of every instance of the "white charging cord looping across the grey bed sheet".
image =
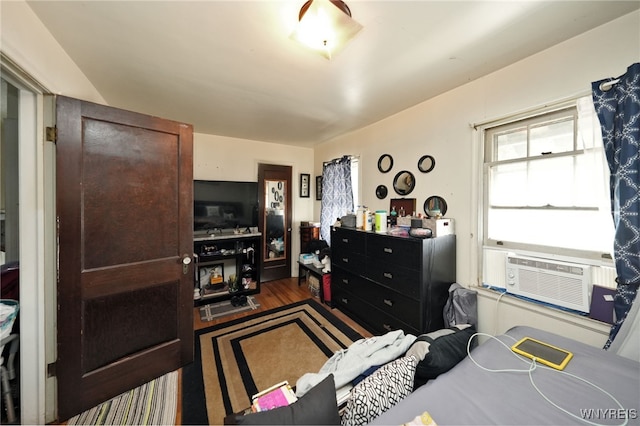
{"type": "MultiPolygon", "coordinates": [[[[509,336],[509,335],[504,335],[506,337],[509,337],[510,339],[513,339],[514,342],[517,341],[516,338],[509,336]]],[[[488,371],[490,373],[527,373],[529,375],[529,381],[531,382],[531,385],[533,386],[533,388],[536,390],[536,392],[538,392],[538,394],[540,394],[540,396],[542,396],[542,398],[544,398],[545,401],[547,401],[549,404],[553,405],[555,408],[557,408],[558,410],[564,412],[565,414],[568,414],[569,416],[578,419],[584,423],[593,425],[593,426],[603,426],[601,423],[596,423],[596,422],[592,422],[588,419],[582,418],[580,416],[577,416],[573,413],[571,413],[570,411],[560,407],[558,404],[556,404],[555,402],[553,402],[549,397],[547,397],[536,385],[535,380],[533,379],[533,372],[538,369],[538,368],[543,368],[546,370],[549,370],[551,372],[554,373],[559,373],[559,374],[563,374],[565,376],[571,377],[573,379],[579,380],[593,388],[595,388],[596,390],[599,390],[600,392],[604,393],[605,395],[607,395],[609,398],[611,398],[611,400],[613,402],[616,403],[616,405],[620,408],[620,410],[625,410],[624,406],[620,403],[620,401],[618,401],[613,395],[611,395],[609,392],[607,392],[606,390],[602,389],[600,386],[596,385],[595,383],[592,383],[590,381],[588,381],[587,379],[584,379],[582,377],[576,376],[575,374],[571,374],[571,373],[567,373],[566,371],[561,371],[561,370],[556,370],[556,369],[552,369],[549,368],[547,366],[538,364],[536,362],[536,358],[534,357],[533,360],[529,361],[528,359],[516,354],[515,352],[513,352],[511,350],[511,347],[509,347],[509,345],[507,345],[506,343],[504,343],[502,340],[500,340],[499,338],[497,338],[496,336],[492,336],[491,334],[488,333],[475,333],[473,334],[470,338],[469,341],[467,342],[467,356],[469,357],[469,359],[471,360],[471,362],[473,362],[478,368],[484,370],[484,371],[488,371]],[[510,368],[505,368],[505,369],[492,369],[492,368],[487,368],[484,367],[482,365],[480,365],[472,356],[471,356],[471,342],[474,339],[474,337],[477,336],[484,336],[484,337],[488,337],[490,339],[494,339],[497,340],[502,346],[504,346],[505,348],[507,348],[507,350],[513,354],[513,356],[515,356],[518,360],[524,362],[525,364],[529,365],[529,368],[527,369],[510,369],[510,368]]],[[[629,418],[628,416],[625,416],[624,422],[621,423],[618,426],[626,426],[627,423],[629,422],[629,418]]]]}

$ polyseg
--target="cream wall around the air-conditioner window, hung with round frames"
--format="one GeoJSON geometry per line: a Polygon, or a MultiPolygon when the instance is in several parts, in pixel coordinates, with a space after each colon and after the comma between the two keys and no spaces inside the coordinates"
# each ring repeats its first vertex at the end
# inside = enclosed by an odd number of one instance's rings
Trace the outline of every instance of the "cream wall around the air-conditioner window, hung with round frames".
{"type": "MultiPolygon", "coordinates": [[[[471,125],[589,94],[592,81],[617,77],[640,60],[638,28],[640,12],[634,12],[365,129],[324,143],[315,151],[316,174],[322,170],[323,161],[344,154],[360,155],[362,201],[373,210],[388,210],[389,198],[395,197],[394,175],[403,169],[414,172],[416,189],[409,197],[417,199],[419,211],[430,195],[446,199],[446,216],[455,220],[457,234],[457,280],[465,286],[477,285],[479,139],[471,125]],[[394,158],[393,169],[387,174],[377,170],[378,157],[383,153],[394,158]],[[417,161],[424,154],[436,159],[435,169],[428,174],[417,170],[417,161]],[[374,195],[379,184],[389,188],[390,196],[385,200],[374,195]]],[[[317,220],[319,203],[315,215],[317,220]]],[[[540,324],[551,331],[580,338],[564,320],[543,324],[541,316],[547,313],[534,314],[517,306],[496,324],[492,306],[490,297],[481,298],[482,331],[504,331],[517,323],[540,324]]],[[[585,327],[591,333],[590,343],[604,342],[606,327],[591,324],[585,327]]]]}

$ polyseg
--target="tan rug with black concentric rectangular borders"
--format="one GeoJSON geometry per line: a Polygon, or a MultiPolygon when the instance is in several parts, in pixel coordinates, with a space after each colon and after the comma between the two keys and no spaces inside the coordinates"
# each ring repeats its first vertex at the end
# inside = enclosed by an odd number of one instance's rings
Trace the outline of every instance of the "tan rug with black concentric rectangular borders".
{"type": "Polygon", "coordinates": [[[222,424],[251,396],[317,372],[362,336],[313,299],[195,333],[195,359],[182,370],[182,423],[222,424]]]}

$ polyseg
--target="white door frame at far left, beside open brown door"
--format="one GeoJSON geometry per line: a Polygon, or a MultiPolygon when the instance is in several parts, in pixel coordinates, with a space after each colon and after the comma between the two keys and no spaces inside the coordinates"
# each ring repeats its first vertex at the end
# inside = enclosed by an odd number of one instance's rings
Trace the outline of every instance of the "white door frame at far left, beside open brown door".
{"type": "Polygon", "coordinates": [[[2,78],[19,89],[20,421],[55,420],[55,147],[45,141],[49,90],[0,53],[2,78]],[[28,262],[26,261],[28,260],[28,262]],[[51,332],[53,330],[53,332],[51,332]]]}

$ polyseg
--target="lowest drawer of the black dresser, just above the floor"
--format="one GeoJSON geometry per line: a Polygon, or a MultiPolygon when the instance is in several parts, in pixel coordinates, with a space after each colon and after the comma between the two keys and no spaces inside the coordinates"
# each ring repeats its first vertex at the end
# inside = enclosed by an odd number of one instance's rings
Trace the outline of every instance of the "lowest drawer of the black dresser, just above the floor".
{"type": "Polygon", "coordinates": [[[348,291],[338,289],[332,301],[337,308],[350,313],[353,318],[375,334],[385,334],[393,330],[403,330],[405,334],[419,335],[415,327],[403,323],[388,313],[370,305],[348,291]]]}

